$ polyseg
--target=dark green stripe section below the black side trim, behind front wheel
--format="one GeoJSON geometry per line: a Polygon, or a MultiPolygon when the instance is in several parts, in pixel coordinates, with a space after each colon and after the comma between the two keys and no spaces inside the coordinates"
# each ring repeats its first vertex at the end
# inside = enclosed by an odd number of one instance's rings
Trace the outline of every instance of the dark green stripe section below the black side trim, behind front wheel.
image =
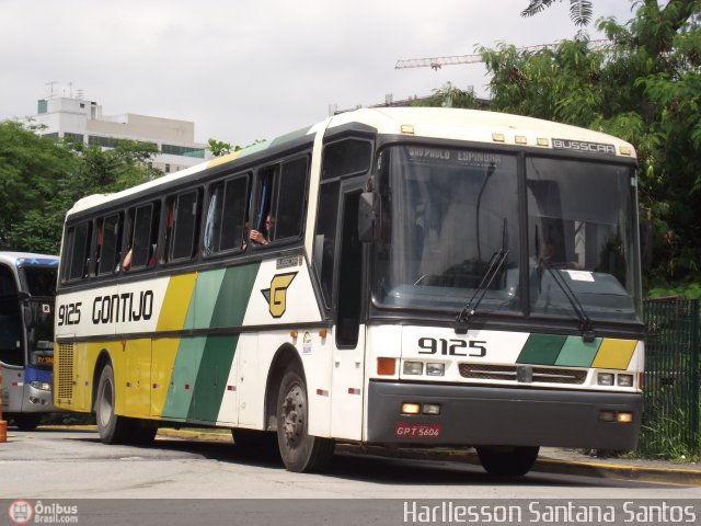
{"type": "Polygon", "coordinates": [[[207,338],[187,420],[217,421],[238,343],[238,335],[207,338]]]}

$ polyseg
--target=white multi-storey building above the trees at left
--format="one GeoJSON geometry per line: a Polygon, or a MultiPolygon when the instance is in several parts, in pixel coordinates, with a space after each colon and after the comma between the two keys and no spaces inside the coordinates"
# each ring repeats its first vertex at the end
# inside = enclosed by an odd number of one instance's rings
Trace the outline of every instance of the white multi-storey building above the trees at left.
{"type": "Polygon", "coordinates": [[[28,117],[43,125],[42,136],[74,139],[89,145],[114,147],[117,139],[158,145],[153,167],[176,172],[211,158],[207,145],[195,142],[195,123],[126,113],[103,115],[96,102],[66,96],[38,101],[37,114],[28,117]]]}

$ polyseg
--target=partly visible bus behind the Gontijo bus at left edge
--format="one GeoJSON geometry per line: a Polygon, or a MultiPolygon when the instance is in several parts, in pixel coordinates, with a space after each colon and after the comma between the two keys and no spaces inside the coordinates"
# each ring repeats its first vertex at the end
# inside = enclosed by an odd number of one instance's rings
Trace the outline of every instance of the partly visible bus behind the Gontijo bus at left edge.
{"type": "Polygon", "coordinates": [[[34,430],[54,411],[54,302],[58,258],[0,252],[2,415],[34,430]]]}

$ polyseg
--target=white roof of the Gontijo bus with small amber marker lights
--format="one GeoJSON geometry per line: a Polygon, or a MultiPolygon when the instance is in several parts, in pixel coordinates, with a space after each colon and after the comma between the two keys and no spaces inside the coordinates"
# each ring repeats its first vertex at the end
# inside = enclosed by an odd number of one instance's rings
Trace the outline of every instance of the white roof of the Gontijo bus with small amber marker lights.
{"type": "Polygon", "coordinates": [[[319,132],[323,133],[326,128],[332,129],[352,123],[375,128],[378,135],[432,137],[491,145],[517,145],[540,150],[555,149],[556,141],[563,141],[564,146],[561,149],[582,150],[584,147],[593,148],[599,146],[611,148],[611,151],[616,152],[616,157],[635,158],[635,150],[630,144],[611,135],[533,117],[445,107],[365,107],[334,115],[321,123],[283,135],[273,140],[257,142],[227,156],[163,175],[122,192],[83,197],[73,205],[68,215],[117,201],[148,188],[166,185],[208,168],[241,159],[306,136],[309,136],[311,140],[319,132]]]}

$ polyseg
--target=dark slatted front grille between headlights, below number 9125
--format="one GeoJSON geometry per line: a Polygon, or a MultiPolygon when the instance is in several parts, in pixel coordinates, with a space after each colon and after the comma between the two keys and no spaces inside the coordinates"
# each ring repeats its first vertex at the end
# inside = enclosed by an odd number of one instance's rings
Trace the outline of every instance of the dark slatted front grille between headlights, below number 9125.
{"type": "Polygon", "coordinates": [[[535,367],[531,365],[460,364],[460,376],[472,380],[507,380],[519,384],[584,384],[587,369],[535,367]]]}

